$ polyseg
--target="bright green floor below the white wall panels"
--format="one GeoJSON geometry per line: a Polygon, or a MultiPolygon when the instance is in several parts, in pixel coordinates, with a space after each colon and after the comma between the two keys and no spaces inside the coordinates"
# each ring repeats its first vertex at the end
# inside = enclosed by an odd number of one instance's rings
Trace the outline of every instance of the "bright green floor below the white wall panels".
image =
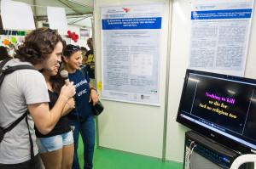
{"type": "MultiPolygon", "coordinates": [[[[79,138],[79,163],[84,166],[83,141],[79,138]]],[[[94,169],[182,169],[183,164],[177,162],[162,162],[157,159],[132,155],[108,149],[96,149],[93,157],[94,169]]]]}

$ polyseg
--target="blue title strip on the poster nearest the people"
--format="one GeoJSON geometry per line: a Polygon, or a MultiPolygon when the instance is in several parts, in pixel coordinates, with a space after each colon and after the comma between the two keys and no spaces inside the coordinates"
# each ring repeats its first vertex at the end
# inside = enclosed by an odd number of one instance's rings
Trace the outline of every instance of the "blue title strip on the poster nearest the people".
{"type": "Polygon", "coordinates": [[[104,19],[102,30],[161,29],[161,17],[104,19]]]}

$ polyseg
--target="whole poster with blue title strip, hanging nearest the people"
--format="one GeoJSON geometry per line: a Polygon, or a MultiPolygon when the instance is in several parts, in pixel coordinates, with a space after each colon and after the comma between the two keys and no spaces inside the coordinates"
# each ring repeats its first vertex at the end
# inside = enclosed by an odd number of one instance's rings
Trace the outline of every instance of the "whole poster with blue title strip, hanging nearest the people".
{"type": "Polygon", "coordinates": [[[102,7],[102,99],[159,105],[163,3],[102,7]]]}

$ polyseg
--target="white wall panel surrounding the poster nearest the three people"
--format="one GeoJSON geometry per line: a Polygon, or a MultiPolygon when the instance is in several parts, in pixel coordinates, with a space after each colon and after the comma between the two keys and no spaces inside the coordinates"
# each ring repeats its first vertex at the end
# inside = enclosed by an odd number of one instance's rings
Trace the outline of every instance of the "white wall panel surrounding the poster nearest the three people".
{"type": "Polygon", "coordinates": [[[162,156],[166,93],[168,0],[96,0],[96,70],[101,80],[101,7],[109,5],[164,3],[160,54],[160,107],[102,100],[98,117],[99,146],[157,158],[162,156]]]}

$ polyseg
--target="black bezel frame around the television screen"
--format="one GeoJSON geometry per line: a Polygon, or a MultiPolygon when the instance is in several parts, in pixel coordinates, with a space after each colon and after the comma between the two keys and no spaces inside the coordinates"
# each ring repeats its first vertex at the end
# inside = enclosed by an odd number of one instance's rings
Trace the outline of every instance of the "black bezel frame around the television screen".
{"type": "MultiPolygon", "coordinates": [[[[247,145],[241,144],[237,142],[234,139],[228,138],[218,132],[214,132],[207,127],[202,127],[192,121],[189,121],[185,118],[182,118],[180,114],[182,114],[181,109],[182,109],[182,101],[184,99],[184,94],[186,92],[186,87],[188,83],[188,78],[190,73],[195,73],[195,74],[200,74],[204,76],[214,76],[218,78],[224,78],[227,80],[234,80],[234,81],[239,81],[239,82],[248,82],[248,83],[254,83],[256,86],[256,80],[254,79],[249,79],[245,77],[240,77],[240,76],[230,76],[230,75],[222,75],[218,73],[212,73],[212,72],[206,72],[206,71],[201,71],[201,70],[186,70],[186,75],[184,78],[184,83],[183,83],[183,92],[181,95],[180,103],[178,106],[178,111],[177,111],[177,118],[176,121],[180,124],[182,124],[185,127],[189,127],[190,129],[194,130],[195,132],[199,132],[201,135],[212,139],[213,141],[217,142],[218,144],[222,144],[225,147],[234,150],[240,154],[248,154],[248,153],[254,153],[256,152],[256,149],[253,149],[255,152],[252,151],[252,148],[248,147],[247,145]]],[[[241,138],[243,139],[243,138],[241,138]]]]}

